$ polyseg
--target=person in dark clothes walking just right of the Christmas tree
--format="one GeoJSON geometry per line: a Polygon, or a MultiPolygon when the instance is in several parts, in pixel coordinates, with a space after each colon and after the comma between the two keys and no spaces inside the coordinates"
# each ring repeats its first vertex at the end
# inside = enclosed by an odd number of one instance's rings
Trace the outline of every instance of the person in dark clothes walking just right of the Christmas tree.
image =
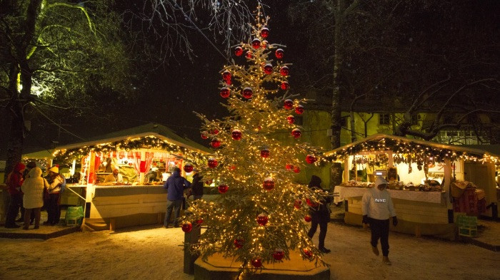
{"type": "MultiPolygon", "coordinates": [[[[321,189],[321,178],[312,175],[311,177],[311,182],[309,182],[309,188],[318,188],[319,190],[323,191],[321,189]]],[[[329,253],[331,252],[330,249],[325,248],[325,237],[326,237],[326,230],[328,229],[328,222],[330,221],[330,210],[328,209],[328,203],[333,201],[333,197],[328,196],[325,192],[323,199],[321,199],[321,204],[319,205],[311,205],[309,204],[309,214],[311,215],[311,229],[309,229],[309,232],[307,235],[309,238],[312,238],[314,236],[314,233],[316,233],[316,229],[318,229],[318,224],[319,224],[319,244],[318,244],[318,249],[321,252],[324,253],[329,253]]]]}

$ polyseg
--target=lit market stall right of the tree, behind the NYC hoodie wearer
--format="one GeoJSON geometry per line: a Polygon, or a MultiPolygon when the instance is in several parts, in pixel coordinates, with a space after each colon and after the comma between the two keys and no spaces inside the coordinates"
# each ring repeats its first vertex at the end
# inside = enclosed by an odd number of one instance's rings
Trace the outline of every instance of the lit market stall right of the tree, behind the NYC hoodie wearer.
{"type": "Polygon", "coordinates": [[[454,239],[458,213],[498,217],[495,172],[500,160],[484,150],[392,135],[372,135],[325,153],[344,163],[335,187],[345,222],[361,224],[361,197],[376,176],[386,177],[396,232],[454,239]],[[464,213],[463,213],[464,212],[464,213]]]}

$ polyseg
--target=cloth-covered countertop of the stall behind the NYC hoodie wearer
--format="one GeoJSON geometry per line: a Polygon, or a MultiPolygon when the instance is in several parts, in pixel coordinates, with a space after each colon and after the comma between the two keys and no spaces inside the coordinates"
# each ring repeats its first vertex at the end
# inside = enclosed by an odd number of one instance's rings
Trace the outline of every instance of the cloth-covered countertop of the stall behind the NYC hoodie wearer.
{"type": "MultiPolygon", "coordinates": [[[[362,197],[366,192],[366,187],[342,187],[336,186],[334,192],[339,193],[339,197],[335,197],[335,202],[341,202],[347,197],[362,197]]],[[[419,192],[409,190],[387,190],[391,194],[391,198],[405,199],[411,201],[441,203],[443,192],[419,192]]]]}

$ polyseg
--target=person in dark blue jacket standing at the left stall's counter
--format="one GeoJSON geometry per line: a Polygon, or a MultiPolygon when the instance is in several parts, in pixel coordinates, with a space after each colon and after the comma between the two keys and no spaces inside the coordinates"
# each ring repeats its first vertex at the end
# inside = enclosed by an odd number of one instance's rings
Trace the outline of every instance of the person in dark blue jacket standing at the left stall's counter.
{"type": "Polygon", "coordinates": [[[166,180],[163,186],[168,192],[166,196],[166,213],[164,227],[169,227],[170,215],[174,209],[174,227],[179,227],[179,215],[184,201],[184,190],[191,187],[191,183],[181,176],[181,169],[176,167],[172,175],[166,180]]]}

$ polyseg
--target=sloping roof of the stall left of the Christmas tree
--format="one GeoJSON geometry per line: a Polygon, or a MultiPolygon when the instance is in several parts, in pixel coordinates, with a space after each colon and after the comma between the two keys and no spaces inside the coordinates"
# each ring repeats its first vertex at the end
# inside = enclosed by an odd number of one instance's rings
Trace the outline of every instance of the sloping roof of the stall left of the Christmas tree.
{"type": "Polygon", "coordinates": [[[189,150],[193,150],[195,152],[200,152],[201,154],[211,153],[208,147],[204,147],[193,140],[187,138],[181,138],[181,136],[174,133],[173,130],[167,128],[164,125],[159,125],[156,123],[147,123],[146,125],[139,125],[134,128],[127,128],[124,130],[115,131],[113,133],[107,133],[104,135],[99,135],[95,138],[90,138],[89,141],[86,142],[77,142],[68,145],[62,145],[56,147],[55,150],[70,150],[77,147],[84,147],[90,145],[97,145],[99,143],[106,142],[116,142],[120,140],[133,139],[133,138],[142,138],[146,136],[154,136],[161,140],[165,140],[174,145],[178,145],[179,147],[185,147],[189,150]]]}

